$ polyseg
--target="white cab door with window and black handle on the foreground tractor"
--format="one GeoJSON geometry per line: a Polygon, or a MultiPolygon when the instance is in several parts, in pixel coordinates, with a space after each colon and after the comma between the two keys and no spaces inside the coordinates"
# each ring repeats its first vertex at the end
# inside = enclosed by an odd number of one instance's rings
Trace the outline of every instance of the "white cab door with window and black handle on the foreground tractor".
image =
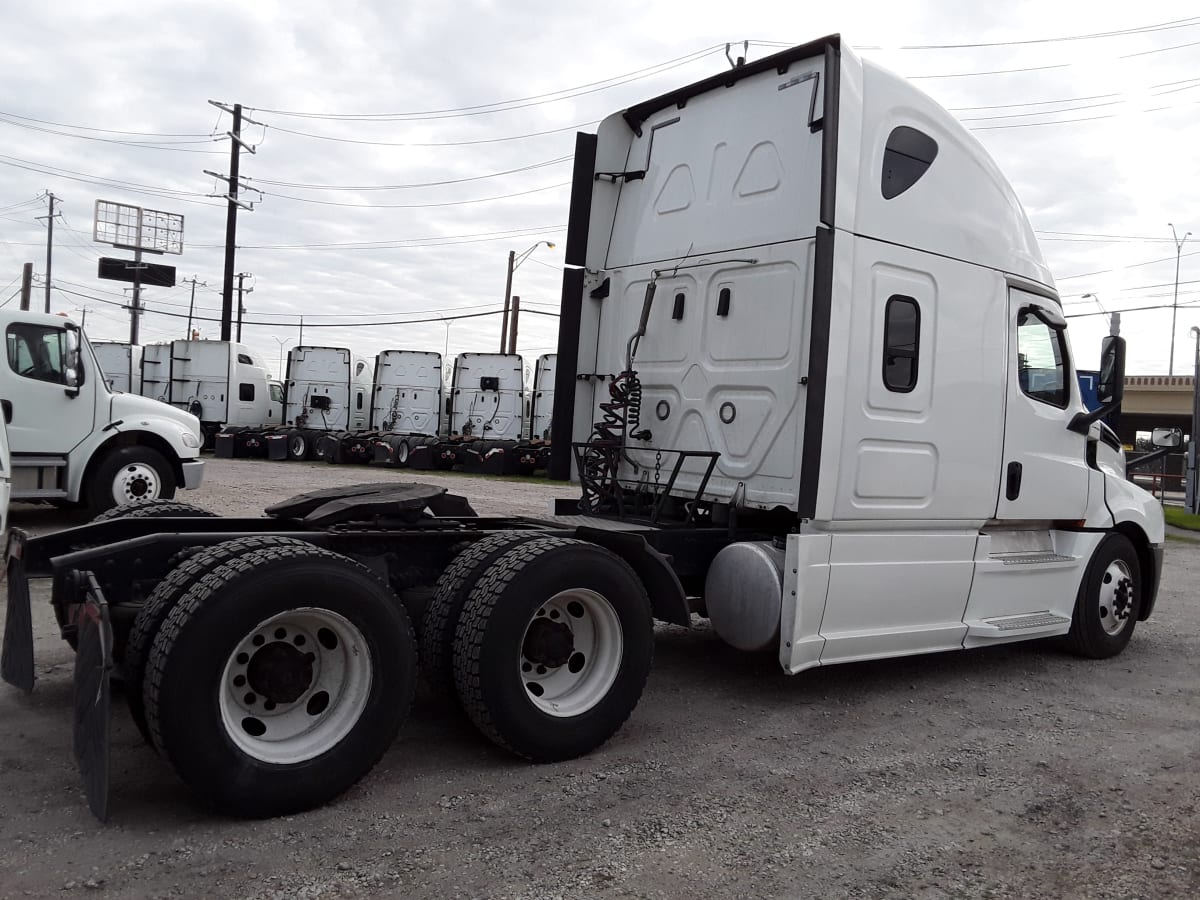
{"type": "Polygon", "coordinates": [[[1009,288],[1004,454],[996,518],[1078,520],[1087,510],[1087,438],[1067,323],[1052,300],[1009,288]]]}

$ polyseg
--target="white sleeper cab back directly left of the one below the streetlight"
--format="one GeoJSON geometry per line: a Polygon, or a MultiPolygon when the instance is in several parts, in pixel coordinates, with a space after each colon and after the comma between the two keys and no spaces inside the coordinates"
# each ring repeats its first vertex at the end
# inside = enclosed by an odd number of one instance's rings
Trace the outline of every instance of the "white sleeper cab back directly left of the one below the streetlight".
{"type": "Polygon", "coordinates": [[[376,356],[370,427],[434,436],[442,431],[442,354],[383,350],[376,356]]]}

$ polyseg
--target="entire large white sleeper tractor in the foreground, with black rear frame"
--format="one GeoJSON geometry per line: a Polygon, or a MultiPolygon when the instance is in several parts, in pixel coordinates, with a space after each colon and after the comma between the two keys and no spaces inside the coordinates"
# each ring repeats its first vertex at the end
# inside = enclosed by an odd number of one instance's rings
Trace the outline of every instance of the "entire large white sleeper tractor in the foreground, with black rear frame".
{"type": "Polygon", "coordinates": [[[1102,421],[1123,358],[1105,343],[1087,412],[996,164],[821,38],[578,136],[551,425],[578,499],[479,517],[391,482],[14,532],[4,676],[32,686],[28,584],[54,576],[91,660],[92,809],[115,654],[197,797],[260,816],[366,773],[418,665],[517,756],[588,752],[634,712],[655,619],[708,617],[787,673],[1044,637],[1104,659],[1152,613],[1164,541],[1102,421]]]}

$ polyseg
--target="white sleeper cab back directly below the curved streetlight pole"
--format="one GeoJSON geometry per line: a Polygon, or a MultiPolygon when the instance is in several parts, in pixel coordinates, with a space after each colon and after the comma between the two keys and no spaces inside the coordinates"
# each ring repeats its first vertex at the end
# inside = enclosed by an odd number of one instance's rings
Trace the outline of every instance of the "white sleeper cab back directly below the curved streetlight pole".
{"type": "Polygon", "coordinates": [[[524,424],[524,373],[515,353],[463,353],[454,364],[450,434],[520,440],[524,424]]]}

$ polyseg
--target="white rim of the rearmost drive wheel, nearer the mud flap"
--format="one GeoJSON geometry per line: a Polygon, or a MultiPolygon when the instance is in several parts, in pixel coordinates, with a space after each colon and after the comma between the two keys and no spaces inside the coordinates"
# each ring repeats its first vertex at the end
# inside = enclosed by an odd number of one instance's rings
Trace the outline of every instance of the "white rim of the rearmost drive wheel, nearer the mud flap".
{"type": "Polygon", "coordinates": [[[221,676],[226,734],[260,762],[286,766],[331,750],[371,694],[362,632],[329,610],[288,610],[238,642],[221,676]]]}

